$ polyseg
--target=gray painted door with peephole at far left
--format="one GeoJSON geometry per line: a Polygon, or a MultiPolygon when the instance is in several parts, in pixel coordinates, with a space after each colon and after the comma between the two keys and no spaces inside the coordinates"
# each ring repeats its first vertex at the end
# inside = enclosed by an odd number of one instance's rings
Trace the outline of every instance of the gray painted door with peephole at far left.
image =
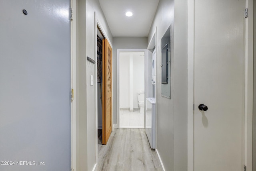
{"type": "Polygon", "coordinates": [[[71,169],[69,7],[0,0],[1,171],[71,169]]]}

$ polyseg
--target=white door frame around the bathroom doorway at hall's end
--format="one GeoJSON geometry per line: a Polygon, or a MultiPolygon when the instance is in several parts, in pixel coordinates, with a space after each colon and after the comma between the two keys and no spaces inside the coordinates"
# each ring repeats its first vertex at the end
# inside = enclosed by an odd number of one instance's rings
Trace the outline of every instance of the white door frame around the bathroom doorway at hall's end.
{"type": "MultiPolygon", "coordinates": [[[[120,108],[120,98],[119,98],[119,55],[120,52],[144,52],[144,66],[146,66],[146,57],[147,55],[147,49],[117,49],[116,50],[116,54],[117,54],[117,58],[116,58],[116,120],[117,120],[117,128],[120,128],[120,112],[119,112],[119,108],[120,108]]],[[[145,67],[146,68],[146,67],[145,67]]],[[[144,85],[146,83],[146,70],[144,68],[144,85]]],[[[145,101],[146,102],[146,101],[145,101]]],[[[145,108],[144,108],[144,113],[145,113],[145,108]]],[[[145,128],[145,115],[144,115],[144,128],[145,128]]]]}

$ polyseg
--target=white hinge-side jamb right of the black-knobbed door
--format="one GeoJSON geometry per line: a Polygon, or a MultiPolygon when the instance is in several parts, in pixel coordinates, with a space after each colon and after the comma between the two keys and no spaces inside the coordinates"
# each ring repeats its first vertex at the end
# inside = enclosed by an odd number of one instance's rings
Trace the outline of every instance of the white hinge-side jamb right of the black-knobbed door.
{"type": "Polygon", "coordinates": [[[245,156],[244,163],[247,171],[252,171],[252,124],[253,124],[253,21],[254,1],[246,0],[248,18],[245,32],[245,156]]]}

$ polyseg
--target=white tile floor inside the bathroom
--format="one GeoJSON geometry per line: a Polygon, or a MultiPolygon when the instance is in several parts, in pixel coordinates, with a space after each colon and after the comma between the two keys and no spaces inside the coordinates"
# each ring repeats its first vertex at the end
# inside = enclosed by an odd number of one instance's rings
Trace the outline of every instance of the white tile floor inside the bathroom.
{"type": "Polygon", "coordinates": [[[144,128],[144,114],[140,110],[120,110],[120,128],[144,128]]]}

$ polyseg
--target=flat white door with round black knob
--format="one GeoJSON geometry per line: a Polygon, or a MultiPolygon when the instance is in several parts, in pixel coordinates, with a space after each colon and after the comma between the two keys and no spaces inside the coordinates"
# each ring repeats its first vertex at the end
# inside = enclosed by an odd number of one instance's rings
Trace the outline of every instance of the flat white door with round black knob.
{"type": "Polygon", "coordinates": [[[194,5],[194,171],[242,171],[245,0],[194,5]]]}

